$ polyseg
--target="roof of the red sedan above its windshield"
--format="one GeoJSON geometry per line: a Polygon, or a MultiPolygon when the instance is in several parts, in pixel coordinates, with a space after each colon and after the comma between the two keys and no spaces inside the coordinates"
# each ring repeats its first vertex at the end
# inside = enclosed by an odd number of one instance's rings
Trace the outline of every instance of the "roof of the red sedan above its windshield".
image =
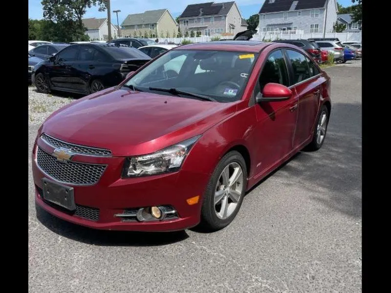
{"type": "Polygon", "coordinates": [[[173,50],[216,50],[216,51],[233,51],[233,52],[251,52],[258,53],[264,47],[273,44],[272,42],[259,41],[215,41],[199,42],[187,45],[181,45],[173,50]]]}

